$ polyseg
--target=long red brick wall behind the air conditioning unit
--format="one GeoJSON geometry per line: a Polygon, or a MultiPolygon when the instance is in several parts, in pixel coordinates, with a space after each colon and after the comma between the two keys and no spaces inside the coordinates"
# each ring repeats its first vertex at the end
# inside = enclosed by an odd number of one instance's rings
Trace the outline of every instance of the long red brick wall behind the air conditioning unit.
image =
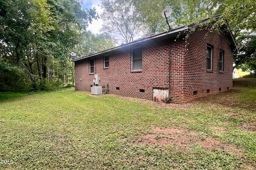
{"type": "MultiPolygon", "coordinates": [[[[94,74],[100,86],[109,84],[109,93],[152,100],[153,88],[169,88],[170,40],[152,42],[142,47],[142,71],[131,71],[131,51],[109,53],[109,68],[104,68],[103,56],[96,57],[94,74]],[[120,90],[116,90],[119,87],[120,90]],[[140,92],[144,89],[145,92],[140,92]]],[[[178,44],[176,42],[175,44],[178,44]]],[[[76,90],[90,91],[94,75],[89,74],[89,60],[75,63],[76,90]]]]}

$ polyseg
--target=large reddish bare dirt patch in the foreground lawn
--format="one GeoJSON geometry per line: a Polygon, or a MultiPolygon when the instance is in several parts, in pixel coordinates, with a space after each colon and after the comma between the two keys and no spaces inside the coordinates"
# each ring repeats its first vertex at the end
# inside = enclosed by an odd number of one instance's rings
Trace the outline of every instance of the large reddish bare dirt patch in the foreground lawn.
{"type": "MultiPolygon", "coordinates": [[[[224,130],[224,127],[215,128],[218,133],[224,130]]],[[[142,136],[140,142],[132,143],[132,145],[148,144],[158,145],[159,147],[164,147],[165,145],[178,145],[179,149],[182,151],[190,148],[195,143],[198,143],[202,148],[208,151],[212,149],[226,150],[229,153],[242,157],[242,150],[234,145],[223,143],[210,136],[200,137],[196,131],[191,131],[182,127],[159,128],[154,125],[152,125],[152,129],[153,133],[142,136]]]]}

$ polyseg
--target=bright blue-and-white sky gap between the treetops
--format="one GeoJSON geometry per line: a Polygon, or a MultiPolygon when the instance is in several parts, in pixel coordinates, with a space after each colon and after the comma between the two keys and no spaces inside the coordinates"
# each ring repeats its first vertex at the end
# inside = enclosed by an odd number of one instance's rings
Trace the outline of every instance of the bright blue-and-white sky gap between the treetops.
{"type": "MultiPolygon", "coordinates": [[[[96,8],[96,12],[98,12],[98,14],[101,14],[102,10],[101,8],[98,6],[100,4],[100,0],[84,0],[84,3],[82,4],[82,8],[96,8]]],[[[87,27],[87,30],[92,31],[92,33],[94,34],[98,34],[100,33],[99,30],[102,27],[102,19],[99,20],[93,20],[92,24],[90,24],[87,27]]]]}

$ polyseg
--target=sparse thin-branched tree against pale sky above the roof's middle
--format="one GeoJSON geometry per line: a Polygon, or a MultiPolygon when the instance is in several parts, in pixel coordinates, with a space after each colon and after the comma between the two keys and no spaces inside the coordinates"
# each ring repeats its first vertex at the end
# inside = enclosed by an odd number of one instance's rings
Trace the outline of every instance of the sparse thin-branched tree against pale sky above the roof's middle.
{"type": "Polygon", "coordinates": [[[117,43],[128,43],[141,33],[141,17],[132,0],[102,0],[104,18],[102,31],[114,37],[117,43]]]}

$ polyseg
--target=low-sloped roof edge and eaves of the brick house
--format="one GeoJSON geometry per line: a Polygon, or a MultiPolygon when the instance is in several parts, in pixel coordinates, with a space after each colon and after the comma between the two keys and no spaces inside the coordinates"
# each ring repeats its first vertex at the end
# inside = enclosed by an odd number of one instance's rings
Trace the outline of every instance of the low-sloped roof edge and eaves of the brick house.
{"type": "MultiPolygon", "coordinates": [[[[213,19],[214,20],[218,20],[220,18],[221,15],[218,15],[218,16],[215,16],[213,19]]],[[[200,24],[204,24],[206,22],[210,21],[210,18],[206,18],[204,20],[200,20],[200,21],[197,21],[197,22],[194,22],[190,25],[182,25],[180,27],[177,27],[177,28],[174,28],[174,29],[170,29],[168,31],[164,31],[164,32],[161,32],[161,33],[153,33],[153,34],[150,34],[148,35],[147,37],[143,37],[143,38],[140,38],[140,39],[136,39],[135,41],[132,41],[130,43],[126,43],[126,44],[122,44],[120,46],[117,46],[117,47],[113,47],[111,49],[107,49],[107,50],[104,50],[104,51],[100,51],[98,53],[93,53],[93,54],[90,54],[90,55],[86,55],[86,56],[83,56],[83,57],[80,57],[78,59],[74,59],[73,62],[76,62],[76,61],[80,61],[80,60],[84,60],[84,59],[88,59],[88,58],[91,58],[91,57],[97,57],[97,56],[102,56],[104,54],[107,54],[107,53],[110,53],[110,52],[113,52],[113,51],[117,51],[117,50],[120,50],[120,49],[127,49],[129,47],[133,47],[133,46],[138,46],[138,45],[141,45],[141,44],[144,44],[144,43],[148,43],[148,41],[154,41],[154,40],[161,40],[161,39],[166,39],[166,38],[170,38],[170,37],[176,37],[178,34],[186,34],[186,30],[191,30],[191,29],[194,29],[194,27],[200,25],[200,24]]],[[[231,37],[232,39],[232,46],[235,46],[235,48],[237,49],[238,51],[238,48],[237,48],[237,45],[236,45],[236,42],[234,41],[234,37],[228,27],[228,34],[231,34],[229,35],[229,37],[231,37]]]]}

